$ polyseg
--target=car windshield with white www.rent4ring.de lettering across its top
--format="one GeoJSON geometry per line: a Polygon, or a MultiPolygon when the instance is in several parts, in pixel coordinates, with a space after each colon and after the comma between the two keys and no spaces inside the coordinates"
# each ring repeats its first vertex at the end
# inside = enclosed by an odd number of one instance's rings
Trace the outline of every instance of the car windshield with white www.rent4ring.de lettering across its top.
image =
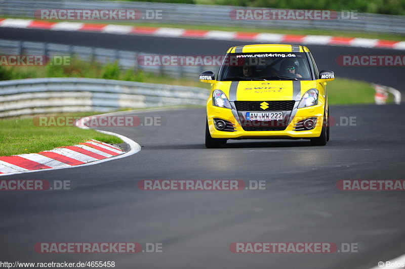
{"type": "Polygon", "coordinates": [[[218,80],[311,80],[305,53],[228,53],[218,80]]]}

